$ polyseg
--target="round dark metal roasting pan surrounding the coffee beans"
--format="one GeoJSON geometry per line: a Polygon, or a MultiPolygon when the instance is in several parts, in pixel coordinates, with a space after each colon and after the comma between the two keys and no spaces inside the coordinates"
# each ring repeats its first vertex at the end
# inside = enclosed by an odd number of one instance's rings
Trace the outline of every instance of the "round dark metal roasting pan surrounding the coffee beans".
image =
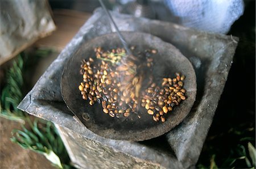
{"type": "Polygon", "coordinates": [[[163,77],[175,77],[179,72],[185,75],[184,88],[187,90],[180,105],[169,112],[165,122],[155,122],[145,109],[141,109],[138,115],[129,117],[110,117],[102,112],[101,104],[89,105],[88,100],[83,100],[78,89],[82,82],[80,72],[81,60],[88,60],[94,56],[94,48],[102,47],[105,50],[122,47],[116,33],[110,33],[86,41],[80,46],[74,56],[64,67],[61,78],[61,94],[68,108],[80,119],[80,121],[92,132],[106,138],[115,140],[143,141],[158,137],[176,125],[178,125],[189,113],[196,98],[196,74],[193,66],[173,45],[166,43],[158,37],[141,32],[122,32],[127,44],[135,45],[139,51],[145,49],[157,49],[153,54],[154,71],[153,76],[157,82],[163,77]]]}

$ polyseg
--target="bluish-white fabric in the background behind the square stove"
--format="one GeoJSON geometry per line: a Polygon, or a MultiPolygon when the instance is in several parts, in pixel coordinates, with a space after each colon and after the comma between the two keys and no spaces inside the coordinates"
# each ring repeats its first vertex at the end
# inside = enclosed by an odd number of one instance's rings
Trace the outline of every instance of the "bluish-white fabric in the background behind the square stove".
{"type": "Polygon", "coordinates": [[[216,33],[228,33],[244,10],[242,0],[164,1],[182,25],[216,33]]]}

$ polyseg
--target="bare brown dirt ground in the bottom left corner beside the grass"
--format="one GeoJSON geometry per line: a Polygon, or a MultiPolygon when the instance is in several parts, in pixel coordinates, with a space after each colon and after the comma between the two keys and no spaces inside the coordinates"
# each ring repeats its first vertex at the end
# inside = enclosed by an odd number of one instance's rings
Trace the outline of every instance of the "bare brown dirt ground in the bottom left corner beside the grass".
{"type": "Polygon", "coordinates": [[[10,141],[11,131],[19,129],[19,126],[18,122],[0,117],[0,168],[55,168],[43,155],[24,150],[10,141]]]}

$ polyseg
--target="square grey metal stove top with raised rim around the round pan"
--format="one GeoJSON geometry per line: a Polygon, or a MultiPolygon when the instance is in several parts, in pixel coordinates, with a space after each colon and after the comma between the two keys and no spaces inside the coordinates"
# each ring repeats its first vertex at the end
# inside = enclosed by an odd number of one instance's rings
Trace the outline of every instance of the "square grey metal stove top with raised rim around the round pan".
{"type": "MultiPolygon", "coordinates": [[[[73,120],[72,113],[61,97],[61,73],[65,63],[85,41],[114,30],[101,9],[94,12],[59,57],[52,62],[35,87],[19,104],[19,108],[63,126],[64,129],[67,128],[66,132],[70,135],[65,138],[68,141],[64,142],[68,149],[77,147],[76,150],[79,150],[80,147],[81,151],[86,151],[81,146],[83,140],[71,142],[72,134],[76,134],[76,137],[96,141],[101,146],[111,147],[114,151],[130,155],[129,157],[145,160],[148,165],[156,163],[166,168],[188,168],[195,165],[228,77],[238,39],[158,20],[133,18],[115,12],[112,16],[121,31],[141,31],[158,36],[173,44],[192,62],[197,77],[196,101],[181,124],[168,134],[152,140],[128,142],[98,136],[73,120]]],[[[73,162],[86,165],[83,158],[79,157],[80,154],[73,152],[69,152],[74,156],[73,162]]],[[[108,151],[104,153],[108,154],[108,151]]]]}

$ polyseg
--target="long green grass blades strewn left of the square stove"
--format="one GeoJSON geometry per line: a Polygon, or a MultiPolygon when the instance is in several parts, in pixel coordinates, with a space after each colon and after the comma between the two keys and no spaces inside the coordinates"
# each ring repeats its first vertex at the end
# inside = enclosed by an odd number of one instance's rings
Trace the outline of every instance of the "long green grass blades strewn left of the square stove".
{"type": "Polygon", "coordinates": [[[38,58],[46,57],[50,52],[51,50],[36,50],[32,60],[28,60],[24,53],[15,58],[13,65],[7,70],[6,84],[1,91],[0,117],[20,122],[22,129],[13,130],[12,142],[23,149],[44,155],[57,168],[74,168],[52,122],[31,118],[17,108],[23,98],[24,71],[30,67],[28,65],[34,65],[38,58]],[[24,62],[27,66],[24,66],[24,62]]]}

